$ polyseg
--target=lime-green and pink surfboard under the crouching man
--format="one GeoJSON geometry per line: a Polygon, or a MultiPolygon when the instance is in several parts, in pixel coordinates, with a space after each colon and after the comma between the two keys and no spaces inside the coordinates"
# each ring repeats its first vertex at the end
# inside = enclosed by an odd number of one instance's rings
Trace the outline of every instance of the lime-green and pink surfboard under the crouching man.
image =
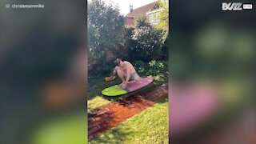
{"type": "Polygon", "coordinates": [[[140,82],[130,81],[127,84],[125,90],[123,90],[119,85],[110,86],[102,90],[102,94],[106,96],[118,96],[122,94],[127,94],[135,90],[141,89],[142,87],[149,85],[153,81],[154,81],[153,77],[142,78],[140,82]]]}

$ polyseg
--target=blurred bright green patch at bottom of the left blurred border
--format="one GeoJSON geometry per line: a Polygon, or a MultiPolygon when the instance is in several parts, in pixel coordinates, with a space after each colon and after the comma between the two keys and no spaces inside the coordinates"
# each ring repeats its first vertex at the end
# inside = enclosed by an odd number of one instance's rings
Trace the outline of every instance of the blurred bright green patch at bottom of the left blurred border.
{"type": "Polygon", "coordinates": [[[84,112],[67,114],[41,122],[31,132],[33,144],[85,144],[87,142],[87,117],[84,112]]]}

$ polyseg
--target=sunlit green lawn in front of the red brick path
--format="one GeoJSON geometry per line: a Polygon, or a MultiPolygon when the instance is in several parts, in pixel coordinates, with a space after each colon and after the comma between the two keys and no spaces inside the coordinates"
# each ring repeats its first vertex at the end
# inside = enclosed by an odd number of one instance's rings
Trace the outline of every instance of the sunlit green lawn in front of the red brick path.
{"type": "Polygon", "coordinates": [[[143,110],[90,143],[168,143],[168,100],[143,110]]]}

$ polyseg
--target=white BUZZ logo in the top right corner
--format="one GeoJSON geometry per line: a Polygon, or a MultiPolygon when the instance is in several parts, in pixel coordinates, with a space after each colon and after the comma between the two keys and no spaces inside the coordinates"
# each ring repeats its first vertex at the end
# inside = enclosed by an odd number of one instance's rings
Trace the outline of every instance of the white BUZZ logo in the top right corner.
{"type": "Polygon", "coordinates": [[[242,4],[241,2],[223,2],[222,3],[222,10],[234,10],[234,11],[241,11],[245,9],[252,9],[253,5],[252,4],[242,4]]]}

